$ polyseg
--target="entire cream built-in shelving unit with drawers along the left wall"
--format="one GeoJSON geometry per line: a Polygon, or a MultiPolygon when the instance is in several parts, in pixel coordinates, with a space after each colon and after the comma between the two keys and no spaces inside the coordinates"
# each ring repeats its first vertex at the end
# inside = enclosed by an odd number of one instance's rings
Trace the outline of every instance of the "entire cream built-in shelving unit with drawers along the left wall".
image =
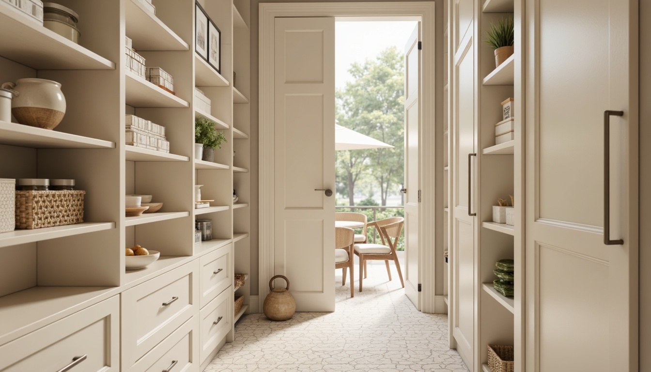
{"type": "Polygon", "coordinates": [[[55,80],[67,102],[53,131],[0,122],[0,177],[76,179],[85,222],[0,234],[0,370],[60,369],[85,354],[89,369],[175,360],[199,371],[249,304],[248,281],[233,282],[251,270],[249,1],[199,1],[221,31],[219,73],[195,53],[195,1],[154,0],[155,14],[138,0],[58,3],[79,14],[79,45],[0,1],[1,81],[55,80]],[[125,67],[125,36],[174,77],[174,94],[125,67]],[[210,112],[195,108],[195,87],[210,112]],[[125,115],[165,126],[170,152],[125,145],[125,115]],[[194,158],[196,117],[227,137],[214,162],[194,158]],[[195,184],[210,207],[194,208],[195,184]],[[125,217],[133,193],[163,207],[125,217]],[[212,220],[213,239],[195,244],[198,218],[212,220]],[[135,244],[161,257],[125,270],[135,244]]]}

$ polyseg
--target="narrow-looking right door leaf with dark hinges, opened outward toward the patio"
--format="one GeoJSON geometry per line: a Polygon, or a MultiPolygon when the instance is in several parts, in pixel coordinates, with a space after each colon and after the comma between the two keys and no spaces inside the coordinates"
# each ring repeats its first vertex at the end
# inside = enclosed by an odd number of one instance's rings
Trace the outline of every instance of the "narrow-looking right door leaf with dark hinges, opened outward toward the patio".
{"type": "Polygon", "coordinates": [[[421,53],[419,22],[405,46],[405,293],[421,309],[420,250],[418,240],[421,182],[419,132],[421,130],[421,53]]]}

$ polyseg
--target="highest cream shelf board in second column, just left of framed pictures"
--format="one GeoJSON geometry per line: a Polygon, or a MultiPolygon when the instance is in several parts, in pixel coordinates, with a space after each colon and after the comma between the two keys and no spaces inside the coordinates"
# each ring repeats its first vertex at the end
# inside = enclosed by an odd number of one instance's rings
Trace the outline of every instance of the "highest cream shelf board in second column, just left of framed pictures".
{"type": "Polygon", "coordinates": [[[124,13],[126,36],[132,38],[136,51],[189,50],[187,42],[135,0],[126,0],[124,13]]]}

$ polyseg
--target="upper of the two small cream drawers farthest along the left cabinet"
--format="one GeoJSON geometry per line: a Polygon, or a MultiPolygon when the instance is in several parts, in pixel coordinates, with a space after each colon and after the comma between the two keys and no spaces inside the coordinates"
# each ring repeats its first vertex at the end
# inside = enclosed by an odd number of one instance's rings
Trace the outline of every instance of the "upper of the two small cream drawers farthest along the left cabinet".
{"type": "Polygon", "coordinates": [[[228,244],[201,257],[201,308],[232,284],[232,247],[228,244]]]}

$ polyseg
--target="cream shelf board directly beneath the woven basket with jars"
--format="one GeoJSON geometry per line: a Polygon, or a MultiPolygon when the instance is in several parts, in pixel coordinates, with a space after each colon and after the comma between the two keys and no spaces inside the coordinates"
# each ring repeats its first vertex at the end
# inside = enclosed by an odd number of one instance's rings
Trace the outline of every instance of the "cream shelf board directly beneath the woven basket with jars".
{"type": "Polygon", "coordinates": [[[64,236],[80,235],[115,229],[115,222],[85,222],[73,225],[42,227],[40,229],[14,230],[0,233],[0,247],[15,246],[39,242],[41,240],[63,238],[64,236]]]}

